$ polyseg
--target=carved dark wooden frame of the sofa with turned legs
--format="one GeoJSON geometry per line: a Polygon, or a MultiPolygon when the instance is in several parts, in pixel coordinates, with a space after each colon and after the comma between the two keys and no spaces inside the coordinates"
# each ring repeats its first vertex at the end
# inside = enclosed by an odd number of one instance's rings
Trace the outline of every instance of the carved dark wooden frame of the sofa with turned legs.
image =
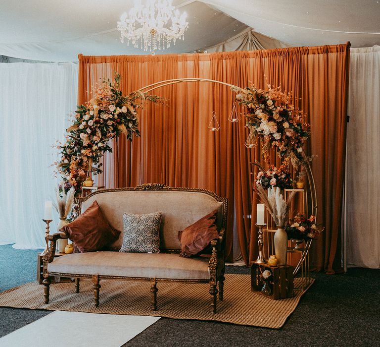
{"type": "MultiPolygon", "coordinates": [[[[96,273],[94,271],[93,274],[91,273],[77,273],[77,272],[57,272],[49,270],[49,267],[54,264],[54,261],[57,260],[64,260],[66,257],[72,256],[71,254],[65,255],[63,257],[57,257],[54,258],[55,248],[56,248],[56,241],[59,238],[67,238],[66,234],[64,232],[57,232],[54,234],[50,234],[46,237],[47,241],[47,249],[45,251],[45,254],[43,255],[43,285],[44,285],[44,296],[45,296],[45,303],[49,302],[49,286],[51,284],[51,278],[54,276],[62,276],[62,277],[70,277],[75,278],[75,288],[76,292],[79,293],[79,279],[80,278],[92,278],[93,280],[93,289],[94,289],[94,299],[95,299],[95,307],[98,307],[99,305],[99,289],[100,289],[100,280],[102,279],[112,279],[112,280],[130,280],[130,281],[150,281],[150,293],[151,293],[151,307],[153,310],[157,309],[157,282],[183,282],[183,283],[208,283],[209,284],[209,294],[211,296],[211,309],[213,313],[216,313],[217,308],[217,296],[219,293],[219,300],[223,300],[223,289],[224,289],[224,272],[225,272],[225,263],[224,263],[224,239],[223,235],[225,232],[225,228],[227,225],[227,198],[221,198],[215,193],[205,190],[205,189],[195,189],[195,188],[174,188],[174,187],[168,187],[162,184],[155,184],[155,183],[149,183],[149,184],[143,184],[140,186],[137,186],[135,188],[117,188],[117,189],[105,189],[105,190],[99,190],[96,191],[90,195],[88,195],[85,198],[79,199],[79,211],[80,213],[83,212],[83,206],[86,201],[90,200],[93,201],[94,199],[101,197],[101,194],[105,193],[112,193],[112,192],[123,192],[123,191],[187,191],[187,192],[195,192],[195,193],[202,193],[206,194],[207,196],[213,198],[216,202],[219,203],[219,211],[218,211],[218,217],[217,217],[217,224],[219,231],[219,238],[214,239],[211,241],[211,256],[208,260],[208,272],[209,272],[209,278],[201,278],[201,279],[186,279],[186,278],[160,278],[160,277],[135,277],[135,276],[108,276],[108,275],[102,275],[101,273],[96,273]],[[217,289],[219,287],[219,290],[217,289]]],[[[98,200],[98,199],[96,199],[98,200]]],[[[99,202],[99,201],[98,201],[99,202]]],[[[102,208],[101,204],[100,208],[102,208]]],[[[88,206],[87,206],[88,207],[88,206]]],[[[86,207],[86,208],[87,208],[86,207]]],[[[190,207],[191,208],[191,207],[190,207]]],[[[124,212],[130,212],[130,211],[124,211],[124,212]]],[[[150,212],[156,212],[156,211],[150,211],[150,212]]],[[[209,213],[211,211],[206,211],[204,215],[209,213]]],[[[133,211],[132,213],[137,213],[133,211]]],[[[141,212],[146,213],[146,211],[141,212]]],[[[107,215],[105,214],[105,217],[107,215]]],[[[202,216],[201,216],[202,217],[202,216]]],[[[179,217],[181,218],[181,217],[179,217]]],[[[120,216],[120,220],[122,220],[122,215],[120,216]]],[[[194,223],[192,221],[192,223],[194,223]]],[[[112,224],[112,223],[111,223],[112,224]]],[[[162,223],[161,223],[162,224],[162,223]]],[[[113,226],[115,227],[115,226],[113,226]]],[[[117,228],[119,230],[122,230],[120,228],[117,228]]],[[[160,237],[161,237],[161,228],[160,228],[160,237]]],[[[120,238],[122,240],[123,238],[123,232],[121,232],[120,238]]],[[[119,239],[120,239],[119,238],[119,239]]],[[[107,249],[107,251],[118,251],[120,247],[111,247],[107,249]]],[[[161,247],[160,247],[161,248],[161,247]]],[[[91,252],[94,253],[94,252],[91,252]]],[[[177,254],[176,256],[179,257],[180,249],[179,247],[176,247],[175,249],[160,249],[160,253],[169,253],[169,254],[177,254]]],[[[78,253],[75,256],[81,256],[83,254],[89,254],[89,253],[78,253]]],[[[131,254],[131,253],[130,253],[131,254]]],[[[133,254],[142,254],[142,253],[133,253],[133,254]]],[[[149,254],[151,255],[151,254],[149,254]]],[[[144,256],[149,256],[144,255],[144,256]]],[[[66,258],[68,259],[68,258],[66,258]]],[[[187,260],[186,258],[180,258],[187,260]]],[[[190,258],[192,259],[192,258],[190,258]]],[[[207,258],[205,259],[207,261],[207,258]]],[[[175,260],[174,260],[175,261],[175,260]]],[[[181,260],[183,261],[183,260],[181,260]]],[[[189,265],[190,265],[189,261],[189,265]]],[[[190,265],[191,266],[191,265],[190,265]]],[[[185,276],[184,276],[185,277],[185,276]]],[[[127,294],[127,293],[126,293],[127,294]]]]}

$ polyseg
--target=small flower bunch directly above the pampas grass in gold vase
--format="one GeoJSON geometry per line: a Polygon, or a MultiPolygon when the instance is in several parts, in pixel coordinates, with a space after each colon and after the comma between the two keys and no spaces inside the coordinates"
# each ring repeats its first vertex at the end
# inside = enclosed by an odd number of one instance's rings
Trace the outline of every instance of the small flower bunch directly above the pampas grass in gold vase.
{"type": "Polygon", "coordinates": [[[271,187],[279,187],[280,189],[293,188],[293,180],[287,171],[286,164],[283,164],[279,168],[271,165],[267,171],[262,169],[256,178],[256,186],[260,185],[264,190],[271,187]]]}

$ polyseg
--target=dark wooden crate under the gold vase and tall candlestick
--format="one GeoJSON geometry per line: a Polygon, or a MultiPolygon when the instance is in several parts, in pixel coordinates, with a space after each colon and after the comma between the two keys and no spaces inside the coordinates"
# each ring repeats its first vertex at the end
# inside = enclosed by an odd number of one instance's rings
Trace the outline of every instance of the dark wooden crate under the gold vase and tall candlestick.
{"type": "MultiPolygon", "coordinates": [[[[269,266],[268,264],[255,264],[251,266],[251,290],[263,294],[261,289],[264,281],[261,273],[269,270],[272,276],[268,279],[272,293],[268,296],[274,300],[285,299],[293,296],[293,270],[290,265],[269,266]]],[[[263,294],[264,295],[264,294],[263,294]]]]}

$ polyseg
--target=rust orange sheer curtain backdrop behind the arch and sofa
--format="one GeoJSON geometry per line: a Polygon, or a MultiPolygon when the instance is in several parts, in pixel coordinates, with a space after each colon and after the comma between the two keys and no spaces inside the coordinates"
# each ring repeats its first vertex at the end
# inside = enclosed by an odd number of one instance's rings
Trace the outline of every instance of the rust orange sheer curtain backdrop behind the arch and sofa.
{"type": "MultiPolygon", "coordinates": [[[[121,75],[124,94],[161,80],[198,77],[240,87],[249,82],[292,91],[295,104],[312,124],[309,153],[317,154],[313,172],[318,188],[318,222],[326,231],[314,247],[313,265],[333,272],[340,268],[340,217],[346,136],[349,44],[253,52],[191,55],[79,55],[78,104],[91,98],[102,78],[121,75]]],[[[209,82],[190,82],[153,92],[165,103],[146,104],[140,115],[142,136],[132,143],[122,136],[114,153],[104,158],[100,183],[106,187],[158,182],[205,188],[229,199],[226,255],[233,259],[233,230],[244,261],[257,256],[256,196],[250,163],[260,160],[260,148],[246,149],[244,117],[228,121],[234,93],[209,82]],[[215,111],[220,131],[208,124],[215,111]]],[[[242,112],[238,108],[239,112],[242,112]]],[[[186,203],[186,202],[184,202],[186,203]]]]}

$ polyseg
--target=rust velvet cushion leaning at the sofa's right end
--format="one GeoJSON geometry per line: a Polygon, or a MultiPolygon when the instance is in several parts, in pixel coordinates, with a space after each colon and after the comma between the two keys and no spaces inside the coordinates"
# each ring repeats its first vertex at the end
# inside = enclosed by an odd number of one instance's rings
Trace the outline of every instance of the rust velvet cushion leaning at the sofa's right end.
{"type": "Polygon", "coordinates": [[[217,213],[218,210],[215,210],[183,231],[178,231],[182,257],[191,257],[198,254],[210,244],[211,240],[219,237],[215,223],[217,213]]]}

